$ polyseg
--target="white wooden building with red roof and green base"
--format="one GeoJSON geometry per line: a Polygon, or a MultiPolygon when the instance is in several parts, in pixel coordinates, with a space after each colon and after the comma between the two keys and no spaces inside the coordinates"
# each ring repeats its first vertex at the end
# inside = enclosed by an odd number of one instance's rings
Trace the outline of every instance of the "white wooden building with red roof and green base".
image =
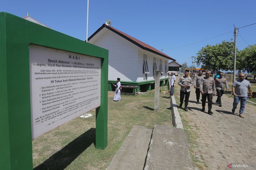
{"type": "Polygon", "coordinates": [[[154,47],[106,24],[94,32],[88,42],[109,50],[109,90],[113,88],[111,84],[116,82],[117,77],[121,79],[122,85],[151,90],[155,70],[161,72],[161,86],[168,82],[168,60],[175,59],[154,47]]]}

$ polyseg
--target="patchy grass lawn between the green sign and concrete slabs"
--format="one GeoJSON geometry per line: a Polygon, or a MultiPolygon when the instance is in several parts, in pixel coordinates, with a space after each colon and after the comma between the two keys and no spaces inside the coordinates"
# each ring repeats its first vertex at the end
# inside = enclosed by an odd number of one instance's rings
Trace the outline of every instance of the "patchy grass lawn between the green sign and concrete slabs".
{"type": "MultiPolygon", "coordinates": [[[[167,86],[160,87],[163,91],[167,86]]],[[[34,141],[34,169],[105,170],[133,125],[173,127],[169,94],[160,92],[160,110],[154,111],[154,90],[143,95],[122,95],[113,101],[108,92],[108,146],[95,148],[95,110],[89,118],[75,118],[34,141]]]]}

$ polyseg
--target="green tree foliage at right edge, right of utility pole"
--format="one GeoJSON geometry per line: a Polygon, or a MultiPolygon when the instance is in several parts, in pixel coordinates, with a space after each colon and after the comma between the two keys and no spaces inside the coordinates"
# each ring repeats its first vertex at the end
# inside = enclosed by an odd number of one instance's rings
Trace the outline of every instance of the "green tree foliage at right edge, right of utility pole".
{"type": "Polygon", "coordinates": [[[241,70],[246,70],[251,64],[254,64],[252,70],[256,70],[256,44],[249,45],[240,51],[236,61],[237,69],[241,70]]]}

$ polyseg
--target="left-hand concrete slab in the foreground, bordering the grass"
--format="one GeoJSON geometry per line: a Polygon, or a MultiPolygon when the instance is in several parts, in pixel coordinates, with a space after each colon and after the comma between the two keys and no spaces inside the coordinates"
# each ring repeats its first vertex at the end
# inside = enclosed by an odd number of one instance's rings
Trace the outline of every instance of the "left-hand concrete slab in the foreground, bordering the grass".
{"type": "Polygon", "coordinates": [[[143,170],[152,131],[134,125],[106,170],[143,170]]]}

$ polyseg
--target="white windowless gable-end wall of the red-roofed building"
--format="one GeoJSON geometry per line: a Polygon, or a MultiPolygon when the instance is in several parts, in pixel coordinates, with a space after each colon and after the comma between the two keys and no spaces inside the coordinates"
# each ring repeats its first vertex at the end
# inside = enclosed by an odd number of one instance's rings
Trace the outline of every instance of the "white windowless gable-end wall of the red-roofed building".
{"type": "Polygon", "coordinates": [[[109,50],[108,80],[116,80],[117,77],[121,81],[137,80],[139,47],[110,30],[90,43],[109,50]]]}

